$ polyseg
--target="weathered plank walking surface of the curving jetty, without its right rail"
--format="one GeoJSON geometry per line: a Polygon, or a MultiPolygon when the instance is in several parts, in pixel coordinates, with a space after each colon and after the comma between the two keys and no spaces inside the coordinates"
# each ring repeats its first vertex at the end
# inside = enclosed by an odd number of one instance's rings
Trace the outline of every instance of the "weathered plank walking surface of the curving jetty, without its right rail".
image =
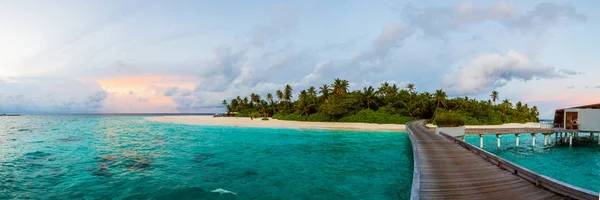
{"type": "Polygon", "coordinates": [[[423,120],[407,124],[413,142],[412,199],[563,199],[435,134],[423,120]]]}

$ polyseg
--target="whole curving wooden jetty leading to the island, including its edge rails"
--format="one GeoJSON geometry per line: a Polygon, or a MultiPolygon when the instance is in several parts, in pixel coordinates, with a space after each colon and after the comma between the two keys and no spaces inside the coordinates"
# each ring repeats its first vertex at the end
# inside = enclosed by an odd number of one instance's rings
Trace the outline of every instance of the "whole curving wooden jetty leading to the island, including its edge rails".
{"type": "Polygon", "coordinates": [[[539,175],[460,139],[409,122],[411,199],[598,199],[598,194],[539,175]]]}

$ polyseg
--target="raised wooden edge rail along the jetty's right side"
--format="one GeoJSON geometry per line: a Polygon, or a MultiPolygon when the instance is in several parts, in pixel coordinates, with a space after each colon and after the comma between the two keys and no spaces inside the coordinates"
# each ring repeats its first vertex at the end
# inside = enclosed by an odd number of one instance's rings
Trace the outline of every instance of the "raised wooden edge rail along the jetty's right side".
{"type": "MultiPolygon", "coordinates": [[[[440,132],[440,134],[442,136],[444,136],[445,138],[449,139],[450,141],[453,141],[454,143],[459,144],[460,146],[466,148],[467,150],[481,156],[488,162],[490,162],[494,165],[497,165],[498,167],[500,167],[504,170],[512,172],[513,174],[520,176],[520,177],[534,183],[538,187],[542,187],[542,188],[545,188],[552,192],[555,192],[557,194],[561,194],[563,196],[566,196],[569,198],[574,198],[574,199],[586,199],[586,200],[587,199],[590,199],[590,200],[600,199],[598,193],[595,193],[590,190],[586,190],[586,189],[583,189],[583,188],[580,188],[577,186],[573,186],[568,183],[564,183],[562,181],[538,174],[536,172],[528,170],[527,168],[521,167],[515,163],[512,163],[503,158],[500,158],[494,154],[491,154],[483,149],[473,146],[472,144],[464,142],[458,138],[452,137],[443,132],[440,132]]],[[[414,152],[414,150],[413,150],[413,152],[414,152]]],[[[414,189],[414,183],[413,183],[413,189],[414,189]]]]}

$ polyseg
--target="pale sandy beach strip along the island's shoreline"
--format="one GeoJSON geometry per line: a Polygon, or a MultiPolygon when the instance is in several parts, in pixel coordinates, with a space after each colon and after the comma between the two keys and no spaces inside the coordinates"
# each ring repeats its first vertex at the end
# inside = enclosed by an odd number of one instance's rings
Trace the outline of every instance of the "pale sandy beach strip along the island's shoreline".
{"type": "MultiPolygon", "coordinates": [[[[272,128],[301,128],[301,129],[335,129],[335,130],[361,130],[361,131],[406,131],[403,124],[367,124],[367,123],[342,123],[342,122],[299,122],[284,121],[269,118],[263,121],[260,118],[250,120],[247,117],[212,117],[212,116],[160,116],[149,117],[154,122],[168,122],[178,124],[196,125],[221,125],[243,127],[272,127],[272,128]]],[[[435,127],[431,124],[429,127],[435,127]]],[[[504,124],[489,126],[466,126],[467,128],[537,128],[539,123],[504,124]]]]}

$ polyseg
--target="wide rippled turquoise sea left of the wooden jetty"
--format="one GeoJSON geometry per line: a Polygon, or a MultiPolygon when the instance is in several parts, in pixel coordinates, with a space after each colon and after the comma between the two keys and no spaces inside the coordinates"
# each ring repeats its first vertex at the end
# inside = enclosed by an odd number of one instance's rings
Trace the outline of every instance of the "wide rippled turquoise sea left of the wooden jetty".
{"type": "Polygon", "coordinates": [[[0,117],[0,199],[406,199],[412,163],[400,132],[0,117]]]}

